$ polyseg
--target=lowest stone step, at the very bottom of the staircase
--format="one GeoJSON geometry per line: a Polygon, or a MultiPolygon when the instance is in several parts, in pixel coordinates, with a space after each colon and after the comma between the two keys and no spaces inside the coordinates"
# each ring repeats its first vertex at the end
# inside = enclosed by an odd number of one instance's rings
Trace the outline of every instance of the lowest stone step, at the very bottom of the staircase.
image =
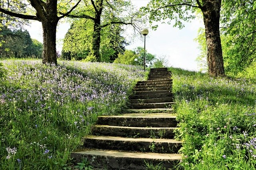
{"type": "Polygon", "coordinates": [[[182,159],[180,154],[159,154],[141,152],[119,152],[113,150],[78,150],[71,157],[76,162],[88,158],[89,163],[97,168],[107,170],[146,170],[145,162],[159,164],[168,169],[174,169],[182,159]]]}

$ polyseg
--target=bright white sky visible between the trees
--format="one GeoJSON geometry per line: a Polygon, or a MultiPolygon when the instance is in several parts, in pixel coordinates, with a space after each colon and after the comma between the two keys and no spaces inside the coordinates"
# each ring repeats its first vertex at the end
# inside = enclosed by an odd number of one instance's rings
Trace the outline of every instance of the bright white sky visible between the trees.
{"type": "MultiPolygon", "coordinates": [[[[146,6],[149,0],[132,0],[132,3],[140,8],[146,6]]],[[[181,30],[173,28],[172,25],[158,23],[156,31],[148,28],[149,33],[146,36],[146,51],[157,57],[165,56],[168,60],[168,66],[179,67],[182,69],[198,71],[198,65],[195,61],[200,51],[198,43],[194,41],[197,37],[198,29],[204,27],[202,21],[195,19],[184,23],[185,27],[181,30]]],[[[57,51],[62,50],[62,40],[69,29],[69,24],[60,21],[57,28],[57,51]]],[[[42,26],[38,21],[32,21],[30,26],[26,26],[31,38],[43,42],[42,26]]],[[[126,49],[135,49],[144,47],[144,38],[135,38],[126,49]]]]}

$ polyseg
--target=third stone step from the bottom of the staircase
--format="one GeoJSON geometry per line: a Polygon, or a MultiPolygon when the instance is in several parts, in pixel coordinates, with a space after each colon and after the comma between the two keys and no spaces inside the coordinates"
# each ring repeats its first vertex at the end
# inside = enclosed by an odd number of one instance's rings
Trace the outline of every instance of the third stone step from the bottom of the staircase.
{"type": "Polygon", "coordinates": [[[119,127],[109,125],[93,125],[91,127],[93,135],[120,136],[132,138],[150,138],[152,134],[165,132],[165,138],[174,137],[174,127],[119,127]]]}

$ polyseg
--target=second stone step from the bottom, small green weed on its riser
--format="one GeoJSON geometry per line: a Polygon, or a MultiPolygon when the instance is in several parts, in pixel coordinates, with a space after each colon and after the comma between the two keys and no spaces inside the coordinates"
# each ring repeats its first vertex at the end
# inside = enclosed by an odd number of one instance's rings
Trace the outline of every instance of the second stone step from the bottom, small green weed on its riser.
{"type": "Polygon", "coordinates": [[[86,136],[82,138],[85,148],[124,150],[155,153],[178,153],[182,142],[174,139],[124,138],[116,136],[86,136]]]}

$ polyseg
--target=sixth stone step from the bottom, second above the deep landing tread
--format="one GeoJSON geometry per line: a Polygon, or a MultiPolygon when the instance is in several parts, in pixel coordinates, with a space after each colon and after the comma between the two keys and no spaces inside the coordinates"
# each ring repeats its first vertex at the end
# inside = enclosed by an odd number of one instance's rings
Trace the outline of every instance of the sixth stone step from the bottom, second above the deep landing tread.
{"type": "Polygon", "coordinates": [[[137,104],[129,104],[129,108],[131,109],[156,109],[156,108],[171,108],[174,102],[166,102],[166,103],[137,103],[137,104]]]}

